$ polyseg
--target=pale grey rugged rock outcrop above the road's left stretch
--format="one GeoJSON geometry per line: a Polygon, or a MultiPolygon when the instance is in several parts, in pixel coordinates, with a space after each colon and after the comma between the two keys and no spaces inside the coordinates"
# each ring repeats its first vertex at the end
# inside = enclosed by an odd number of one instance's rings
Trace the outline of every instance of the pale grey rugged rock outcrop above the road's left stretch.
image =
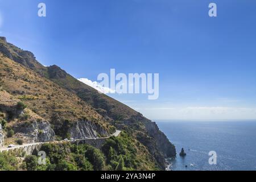
{"type": "Polygon", "coordinates": [[[51,125],[46,121],[25,122],[14,127],[15,133],[22,135],[29,142],[50,142],[55,139],[51,125]]]}

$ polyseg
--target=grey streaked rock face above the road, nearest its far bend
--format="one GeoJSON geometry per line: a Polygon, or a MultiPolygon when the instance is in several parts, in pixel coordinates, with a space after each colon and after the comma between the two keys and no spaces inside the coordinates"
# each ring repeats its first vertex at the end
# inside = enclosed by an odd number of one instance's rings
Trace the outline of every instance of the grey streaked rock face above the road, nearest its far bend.
{"type": "Polygon", "coordinates": [[[72,138],[96,138],[99,135],[101,137],[108,137],[109,134],[100,125],[96,125],[90,121],[77,121],[73,123],[69,134],[72,138]]]}

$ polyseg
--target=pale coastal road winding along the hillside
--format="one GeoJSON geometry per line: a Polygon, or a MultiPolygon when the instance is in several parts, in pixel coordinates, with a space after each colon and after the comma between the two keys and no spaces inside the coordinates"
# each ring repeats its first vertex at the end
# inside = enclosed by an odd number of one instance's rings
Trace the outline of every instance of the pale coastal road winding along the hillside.
{"type": "Polygon", "coordinates": [[[53,142],[38,142],[38,143],[26,143],[26,144],[22,144],[22,145],[15,145],[14,147],[0,147],[0,152],[3,151],[9,151],[9,150],[14,150],[15,148],[24,148],[24,147],[30,147],[30,146],[34,146],[34,145],[38,145],[38,144],[44,144],[44,143],[65,143],[65,142],[76,142],[76,141],[81,141],[81,140],[91,140],[91,139],[107,139],[110,138],[112,136],[114,137],[118,137],[119,134],[121,133],[120,130],[116,130],[115,133],[113,133],[112,135],[110,135],[109,137],[101,137],[101,138],[80,138],[80,139],[73,139],[73,140],[61,140],[61,141],[53,141],[53,142]]]}

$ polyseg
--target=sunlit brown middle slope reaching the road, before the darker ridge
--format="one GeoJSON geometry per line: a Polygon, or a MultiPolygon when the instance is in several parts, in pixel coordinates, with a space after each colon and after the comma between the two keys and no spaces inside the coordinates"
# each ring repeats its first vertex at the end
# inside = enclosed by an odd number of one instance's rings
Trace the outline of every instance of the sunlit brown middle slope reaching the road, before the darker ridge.
{"type": "MultiPolygon", "coordinates": [[[[51,122],[59,137],[64,138],[71,133],[77,136],[76,125],[83,122],[90,123],[89,130],[92,132],[84,132],[89,135],[79,137],[108,136],[114,131],[114,127],[111,127],[100,114],[76,94],[68,92],[1,53],[0,76],[2,89],[12,94],[15,100],[22,101],[34,113],[51,122]],[[94,136],[91,136],[92,133],[94,136]]],[[[6,94],[1,94],[3,100],[5,97],[7,97],[6,94]]],[[[8,107],[5,103],[0,102],[0,105],[8,107]]],[[[10,114],[8,118],[12,119],[10,114]]],[[[88,127],[84,130],[87,131],[88,127]]]]}

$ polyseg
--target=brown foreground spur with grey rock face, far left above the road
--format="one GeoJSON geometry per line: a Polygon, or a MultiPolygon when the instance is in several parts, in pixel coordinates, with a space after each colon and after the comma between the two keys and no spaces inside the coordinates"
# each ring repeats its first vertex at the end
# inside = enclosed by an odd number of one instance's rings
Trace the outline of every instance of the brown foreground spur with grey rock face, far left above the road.
{"type": "Polygon", "coordinates": [[[20,139],[26,143],[48,142],[55,140],[55,133],[49,122],[40,117],[20,100],[5,90],[0,90],[0,125],[3,145],[20,139]],[[6,133],[6,140],[3,135],[6,133]]]}

